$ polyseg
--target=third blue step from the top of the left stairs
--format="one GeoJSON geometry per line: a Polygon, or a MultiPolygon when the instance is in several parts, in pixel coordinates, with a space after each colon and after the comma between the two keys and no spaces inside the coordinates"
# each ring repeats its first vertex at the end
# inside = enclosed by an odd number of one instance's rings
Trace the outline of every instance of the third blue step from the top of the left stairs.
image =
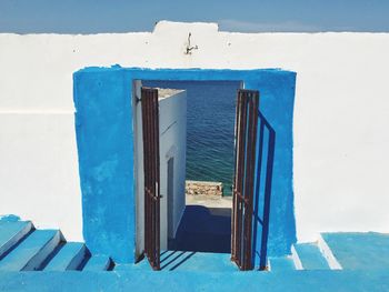
{"type": "Polygon", "coordinates": [[[67,242],[44,268],[44,271],[77,270],[86,259],[87,251],[83,243],[67,242]]]}

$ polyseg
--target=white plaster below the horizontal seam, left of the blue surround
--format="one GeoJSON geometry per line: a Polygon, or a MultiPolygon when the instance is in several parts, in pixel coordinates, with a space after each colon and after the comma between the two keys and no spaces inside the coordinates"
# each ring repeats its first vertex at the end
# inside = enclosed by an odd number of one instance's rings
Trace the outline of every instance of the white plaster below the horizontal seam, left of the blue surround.
{"type": "Polygon", "coordinates": [[[82,239],[73,114],[0,114],[0,214],[82,239]]]}

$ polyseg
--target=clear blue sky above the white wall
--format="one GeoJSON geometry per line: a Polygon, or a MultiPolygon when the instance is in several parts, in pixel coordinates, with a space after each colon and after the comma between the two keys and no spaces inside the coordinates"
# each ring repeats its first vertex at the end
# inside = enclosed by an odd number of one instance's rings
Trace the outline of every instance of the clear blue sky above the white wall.
{"type": "Polygon", "coordinates": [[[0,0],[0,32],[152,31],[159,20],[222,31],[389,31],[389,0],[0,0]]]}

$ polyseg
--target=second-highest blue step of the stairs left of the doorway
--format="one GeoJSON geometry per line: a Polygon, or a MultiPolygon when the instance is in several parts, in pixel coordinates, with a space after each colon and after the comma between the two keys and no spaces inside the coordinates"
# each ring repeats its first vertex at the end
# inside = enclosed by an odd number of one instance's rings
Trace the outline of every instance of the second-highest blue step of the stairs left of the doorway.
{"type": "Polygon", "coordinates": [[[0,261],[0,271],[39,270],[62,240],[58,230],[36,230],[0,261]]]}

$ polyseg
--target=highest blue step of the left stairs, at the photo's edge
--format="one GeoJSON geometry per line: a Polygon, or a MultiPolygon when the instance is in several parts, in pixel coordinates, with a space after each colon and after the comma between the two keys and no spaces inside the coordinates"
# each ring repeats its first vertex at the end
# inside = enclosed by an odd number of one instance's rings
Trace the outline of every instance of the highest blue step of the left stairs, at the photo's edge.
{"type": "Polygon", "coordinates": [[[30,221],[0,221],[0,259],[32,229],[30,221]]]}

